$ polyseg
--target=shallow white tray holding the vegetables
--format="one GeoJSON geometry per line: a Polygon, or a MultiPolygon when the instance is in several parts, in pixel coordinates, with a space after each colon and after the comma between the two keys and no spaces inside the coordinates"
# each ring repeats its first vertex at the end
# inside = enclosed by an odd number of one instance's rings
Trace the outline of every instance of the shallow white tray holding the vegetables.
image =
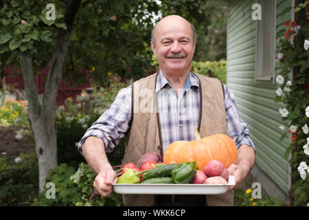
{"type": "Polygon", "coordinates": [[[116,184],[113,190],[119,194],[170,194],[170,195],[214,195],[227,192],[235,185],[235,177],[229,176],[227,184],[116,184]]]}

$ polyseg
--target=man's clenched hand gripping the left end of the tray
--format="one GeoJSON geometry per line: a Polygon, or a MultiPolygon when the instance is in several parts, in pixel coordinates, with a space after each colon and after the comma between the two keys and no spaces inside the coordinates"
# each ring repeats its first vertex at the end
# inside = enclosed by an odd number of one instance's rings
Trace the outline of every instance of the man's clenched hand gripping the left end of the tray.
{"type": "Polygon", "coordinates": [[[93,182],[95,192],[102,195],[102,197],[109,197],[113,192],[112,184],[115,178],[116,173],[111,166],[102,168],[93,182]]]}

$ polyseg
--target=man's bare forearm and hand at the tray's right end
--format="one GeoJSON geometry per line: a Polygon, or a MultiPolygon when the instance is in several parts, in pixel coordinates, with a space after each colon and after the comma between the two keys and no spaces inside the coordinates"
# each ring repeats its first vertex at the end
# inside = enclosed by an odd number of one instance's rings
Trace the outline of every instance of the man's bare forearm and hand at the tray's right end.
{"type": "Polygon", "coordinates": [[[227,190],[236,188],[244,178],[247,177],[255,162],[255,151],[249,145],[242,145],[238,148],[238,158],[236,164],[231,164],[227,168],[229,175],[235,177],[235,186],[229,186],[227,190]]]}

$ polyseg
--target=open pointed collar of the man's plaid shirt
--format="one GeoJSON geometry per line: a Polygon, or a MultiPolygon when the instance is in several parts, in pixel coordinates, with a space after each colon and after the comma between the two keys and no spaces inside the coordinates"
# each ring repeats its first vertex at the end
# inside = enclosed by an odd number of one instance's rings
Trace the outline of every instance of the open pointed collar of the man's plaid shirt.
{"type": "MultiPolygon", "coordinates": [[[[161,69],[160,69],[159,76],[157,78],[156,92],[159,91],[160,89],[163,89],[167,85],[170,88],[172,88],[172,85],[170,84],[168,79],[165,78],[163,72],[161,72],[161,69]]],[[[190,72],[187,75],[187,80],[185,80],[185,87],[183,89],[185,89],[185,91],[187,91],[188,89],[191,89],[192,87],[198,88],[199,87],[199,80],[198,80],[196,75],[194,75],[192,72],[190,72]]]]}

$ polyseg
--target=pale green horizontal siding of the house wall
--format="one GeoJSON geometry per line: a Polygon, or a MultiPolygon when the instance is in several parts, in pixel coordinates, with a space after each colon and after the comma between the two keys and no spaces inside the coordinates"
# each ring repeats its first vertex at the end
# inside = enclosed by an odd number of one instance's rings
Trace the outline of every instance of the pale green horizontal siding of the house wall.
{"type": "MultiPolygon", "coordinates": [[[[288,194],[289,165],[284,159],[288,138],[279,142],[282,118],[278,109],[282,106],[274,101],[277,88],[271,80],[255,80],[256,22],[259,21],[251,19],[253,3],[256,1],[229,1],[227,85],[236,96],[240,117],[247,122],[251,139],[257,148],[256,164],[288,194]]],[[[276,32],[284,28],[286,20],[291,19],[290,12],[284,17],[278,15],[291,3],[276,1],[276,32]]],[[[275,66],[277,70],[279,65],[276,63],[275,66]]]]}

